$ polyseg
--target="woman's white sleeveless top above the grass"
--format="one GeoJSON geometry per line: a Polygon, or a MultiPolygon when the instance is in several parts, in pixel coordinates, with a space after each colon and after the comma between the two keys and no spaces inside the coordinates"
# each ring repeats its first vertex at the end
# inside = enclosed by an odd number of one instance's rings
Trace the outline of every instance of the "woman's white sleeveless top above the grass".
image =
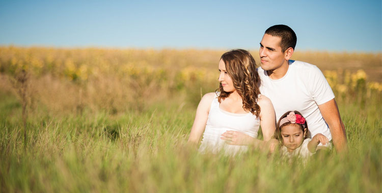
{"type": "Polygon", "coordinates": [[[220,139],[222,137],[221,135],[226,131],[238,131],[253,138],[257,138],[259,126],[259,117],[251,112],[246,114],[236,114],[220,109],[220,103],[217,101],[216,95],[211,103],[199,151],[208,151],[216,154],[223,150],[225,154],[229,155],[247,151],[247,146],[226,144],[224,140],[220,139]]]}

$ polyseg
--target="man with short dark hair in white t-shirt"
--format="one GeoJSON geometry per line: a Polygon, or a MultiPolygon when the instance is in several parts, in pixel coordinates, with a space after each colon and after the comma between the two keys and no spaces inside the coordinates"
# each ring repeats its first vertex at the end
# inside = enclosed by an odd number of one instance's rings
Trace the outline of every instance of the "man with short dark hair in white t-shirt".
{"type": "MultiPolygon", "coordinates": [[[[275,107],[276,118],[287,111],[299,111],[308,122],[311,137],[321,133],[333,141],[338,152],[347,149],[345,127],[334,93],[321,71],[314,65],[289,60],[297,38],[286,25],[269,27],[260,42],[260,92],[275,107]]],[[[332,148],[331,143],[318,149],[332,148]]]]}

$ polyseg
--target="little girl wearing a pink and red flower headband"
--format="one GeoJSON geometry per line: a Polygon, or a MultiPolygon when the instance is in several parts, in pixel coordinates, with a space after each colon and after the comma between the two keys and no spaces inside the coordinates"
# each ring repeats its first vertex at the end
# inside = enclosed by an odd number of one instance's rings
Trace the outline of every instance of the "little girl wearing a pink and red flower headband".
{"type": "Polygon", "coordinates": [[[283,156],[306,158],[316,152],[319,143],[329,143],[322,134],[309,138],[308,124],[298,111],[288,111],[280,117],[276,126],[275,139],[282,144],[283,156]]]}

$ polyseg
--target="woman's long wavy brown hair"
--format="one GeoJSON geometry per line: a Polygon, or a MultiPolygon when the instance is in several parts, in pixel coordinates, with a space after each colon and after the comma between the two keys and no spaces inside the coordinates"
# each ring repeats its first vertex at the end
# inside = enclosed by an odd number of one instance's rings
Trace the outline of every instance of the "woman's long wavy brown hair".
{"type": "MultiPolygon", "coordinates": [[[[226,65],[234,88],[243,100],[243,109],[258,117],[260,114],[260,106],[257,104],[260,94],[260,77],[256,70],[255,59],[248,51],[241,49],[226,52],[221,59],[226,65]]],[[[222,83],[216,91],[220,91],[219,103],[232,93],[224,91],[222,83]]]]}

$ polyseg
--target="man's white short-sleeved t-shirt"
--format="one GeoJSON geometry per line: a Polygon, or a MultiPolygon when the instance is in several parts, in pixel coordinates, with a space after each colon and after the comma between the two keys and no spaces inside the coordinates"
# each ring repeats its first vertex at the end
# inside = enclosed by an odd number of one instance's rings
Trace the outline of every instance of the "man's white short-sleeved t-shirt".
{"type": "Polygon", "coordinates": [[[261,67],[258,73],[261,78],[260,92],[272,102],[277,121],[287,111],[298,111],[306,118],[311,137],[320,133],[332,140],[318,105],[334,99],[334,93],[316,66],[289,60],[287,73],[277,80],[270,79],[261,67]]]}

